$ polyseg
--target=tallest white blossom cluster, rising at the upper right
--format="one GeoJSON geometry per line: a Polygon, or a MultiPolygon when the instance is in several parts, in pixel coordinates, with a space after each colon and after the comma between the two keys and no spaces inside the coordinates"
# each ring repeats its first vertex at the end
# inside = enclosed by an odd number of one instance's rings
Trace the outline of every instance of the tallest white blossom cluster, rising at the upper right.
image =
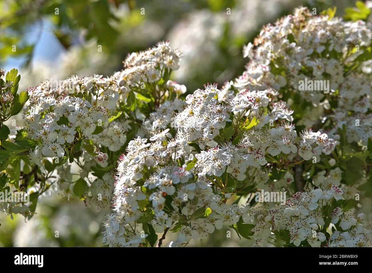
{"type": "MultiPolygon", "coordinates": [[[[345,119],[353,123],[356,119],[369,120],[366,112],[371,110],[372,78],[360,62],[371,38],[371,20],[344,21],[330,15],[314,16],[308,8],[298,8],[293,15],[264,26],[254,43],[244,47],[244,56],[250,61],[234,86],[239,90],[294,91],[308,102],[292,99],[309,109],[301,123],[311,126],[328,118],[328,126],[337,134],[345,119]],[[333,118],[330,108],[334,108],[333,118]]],[[[347,127],[353,131],[348,137],[356,141],[362,138],[366,144],[365,140],[372,136],[368,121],[361,129],[353,127],[347,127]]]]}

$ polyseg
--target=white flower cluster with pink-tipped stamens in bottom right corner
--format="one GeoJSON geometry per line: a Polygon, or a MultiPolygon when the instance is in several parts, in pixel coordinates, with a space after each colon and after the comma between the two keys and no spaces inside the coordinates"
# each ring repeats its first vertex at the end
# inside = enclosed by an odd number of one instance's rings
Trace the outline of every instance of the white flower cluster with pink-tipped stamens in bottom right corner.
{"type": "Polygon", "coordinates": [[[294,246],[365,247],[372,234],[360,224],[364,214],[359,214],[357,220],[352,212],[343,212],[340,207],[324,210],[331,204],[339,204],[337,201],[344,199],[342,195],[343,190],[334,185],[297,192],[287,200],[286,206],[270,208],[266,216],[257,217],[259,221],[252,228],[256,245],[273,244],[275,238],[269,237],[271,234],[294,246]],[[338,228],[331,236],[326,233],[327,221],[338,228]],[[286,231],[285,235],[279,235],[279,231],[286,231]]]}

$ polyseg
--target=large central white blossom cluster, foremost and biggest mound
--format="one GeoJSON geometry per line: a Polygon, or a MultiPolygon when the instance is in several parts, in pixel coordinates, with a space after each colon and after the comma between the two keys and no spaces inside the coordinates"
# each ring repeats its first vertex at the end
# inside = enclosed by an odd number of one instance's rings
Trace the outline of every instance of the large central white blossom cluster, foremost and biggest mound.
{"type": "MultiPolygon", "coordinates": [[[[204,238],[215,228],[222,228],[223,224],[234,225],[242,215],[244,221],[249,219],[251,222],[254,218],[253,214],[247,212],[249,208],[240,209],[238,205],[231,206],[226,202],[231,197],[229,191],[235,191],[234,186],[225,189],[225,193],[223,189],[218,190],[221,191],[220,194],[212,190],[211,186],[220,182],[219,177],[226,172],[237,181],[243,181],[248,175],[261,182],[263,188],[269,179],[265,169],[261,169],[267,164],[266,153],[273,156],[280,153],[295,156],[299,150],[304,159],[310,159],[313,155],[320,155],[322,151],[328,155],[334,149],[336,143],[320,132],[304,131],[301,142],[297,142],[297,133],[291,123],[293,111],[285,108],[282,101],[271,103],[272,107],[268,107],[273,97],[267,97],[266,103],[260,104],[260,100],[254,97],[257,93],[243,92],[236,95],[238,98],[245,97],[245,100],[237,100],[231,94],[224,102],[219,103],[218,94],[221,94],[221,90],[216,85],[206,85],[205,90],[196,90],[193,95],[186,97],[183,111],[172,111],[172,103],[166,102],[164,104],[167,105],[167,111],[157,110],[152,113],[145,126],[161,127],[157,125],[159,120],[160,124],[172,126],[165,130],[163,127],[161,138],[160,133],[151,135],[149,130],[145,133],[144,129],[140,130],[142,136],[146,135],[150,139],[138,136],[130,141],[127,153],[119,159],[113,199],[115,213],[108,216],[106,221],[105,241],[111,246],[139,245],[141,237],[132,228],[136,226],[136,221],[148,217],[148,209],[142,209],[142,212],[138,209],[138,206],[145,205],[154,211],[152,224],[156,232],[163,232],[177,221],[188,223],[180,227],[180,234],[172,246],[183,246],[191,238],[204,238]],[[264,109],[271,111],[264,115],[264,109]],[[249,114],[251,110],[254,110],[253,114],[249,114]],[[246,136],[242,136],[236,146],[231,142],[218,144],[214,139],[219,136],[219,130],[226,128],[227,122],[232,124],[230,130],[244,125],[240,124],[240,119],[235,118],[232,121],[232,115],[240,115],[246,120],[253,120],[254,117],[259,123],[252,130],[246,130],[246,136]],[[170,123],[173,116],[174,123],[170,123]],[[279,119],[285,121],[279,122],[279,119]],[[170,129],[177,130],[174,131],[175,140],[172,139],[170,129]],[[185,143],[188,149],[174,145],[174,142],[185,143]],[[200,152],[195,147],[188,146],[187,143],[190,142],[198,144],[200,152]],[[301,147],[309,148],[302,152],[301,147]],[[180,159],[185,162],[195,161],[196,164],[186,170],[187,165],[177,165],[175,160],[180,159]],[[256,172],[257,176],[254,175],[256,172]],[[140,185],[148,190],[144,191],[140,185]],[[146,196],[148,201],[145,201],[146,196]],[[203,208],[210,208],[212,212],[206,218],[193,219],[196,211],[203,208]],[[112,228],[113,221],[116,223],[115,230],[112,228]],[[127,239],[124,240],[123,237],[127,239]]],[[[159,109],[163,109],[163,105],[159,109]]],[[[232,136],[232,132],[230,135],[232,136]]],[[[284,179],[287,181],[285,185],[293,182],[290,173],[284,179]]],[[[221,180],[221,183],[224,181],[221,180]]],[[[270,186],[267,185],[267,188],[270,186]]]]}

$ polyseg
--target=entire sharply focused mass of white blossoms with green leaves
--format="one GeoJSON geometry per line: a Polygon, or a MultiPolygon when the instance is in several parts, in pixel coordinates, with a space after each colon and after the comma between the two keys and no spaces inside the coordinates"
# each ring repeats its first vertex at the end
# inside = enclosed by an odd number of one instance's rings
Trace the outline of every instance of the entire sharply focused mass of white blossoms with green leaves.
{"type": "Polygon", "coordinates": [[[170,230],[177,237],[167,245],[182,247],[224,225],[254,246],[368,246],[365,215],[342,207],[367,180],[353,170],[360,179],[349,183],[344,171],[349,157],[367,166],[372,148],[372,79],[356,66],[371,38],[371,20],[300,7],[244,47],[243,75],[184,99],[185,85],[169,79],[182,53],[169,42],[129,54],[111,77],[42,82],[24,111],[35,143],[29,162],[42,168],[29,190],[74,192],[104,209],[109,246],[154,246],[163,233],[161,246],[170,230]],[[329,81],[330,92],[301,90],[305,78],[329,81]],[[74,182],[71,163],[80,171],[74,182]],[[289,198],[275,205],[256,200],[260,191],[289,198]]]}

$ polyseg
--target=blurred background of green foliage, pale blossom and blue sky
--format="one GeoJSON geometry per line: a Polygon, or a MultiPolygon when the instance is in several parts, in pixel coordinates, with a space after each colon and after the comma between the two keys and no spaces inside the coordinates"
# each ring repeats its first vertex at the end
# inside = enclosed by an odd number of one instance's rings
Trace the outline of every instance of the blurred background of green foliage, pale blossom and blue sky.
{"type": "MultiPolygon", "coordinates": [[[[18,69],[23,91],[71,74],[111,75],[128,53],[170,40],[185,55],[173,80],[193,92],[240,75],[247,61],[243,44],[300,5],[317,14],[336,6],[342,15],[355,0],[1,0],[0,68],[18,69]]],[[[30,221],[0,212],[0,247],[103,246],[104,212],[56,194],[41,198],[30,221]]],[[[234,232],[225,240],[226,232],[189,246],[251,246],[234,232]]],[[[168,233],[166,241],[174,235],[168,233]]]]}

